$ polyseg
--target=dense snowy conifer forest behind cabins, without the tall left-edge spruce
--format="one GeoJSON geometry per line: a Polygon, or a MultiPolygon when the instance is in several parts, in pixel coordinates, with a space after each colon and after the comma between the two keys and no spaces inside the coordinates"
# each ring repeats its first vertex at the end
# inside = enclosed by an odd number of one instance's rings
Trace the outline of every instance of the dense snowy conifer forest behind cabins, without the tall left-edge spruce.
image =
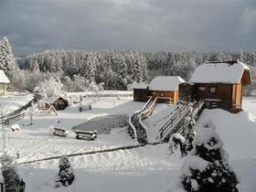
{"type": "Polygon", "coordinates": [[[127,90],[133,82],[150,81],[158,75],[178,75],[189,80],[197,65],[230,59],[240,59],[248,64],[255,77],[256,54],[243,51],[198,53],[51,49],[16,60],[27,76],[37,75],[32,79],[41,80],[43,74],[51,74],[59,77],[68,91],[84,91],[91,82],[101,84],[104,90],[127,90]]]}

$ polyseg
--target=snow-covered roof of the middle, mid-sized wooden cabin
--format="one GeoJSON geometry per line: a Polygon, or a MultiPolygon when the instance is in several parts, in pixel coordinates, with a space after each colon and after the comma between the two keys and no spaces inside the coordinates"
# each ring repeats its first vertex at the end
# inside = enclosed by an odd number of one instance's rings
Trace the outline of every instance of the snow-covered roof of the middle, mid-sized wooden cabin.
{"type": "Polygon", "coordinates": [[[179,76],[157,76],[149,83],[151,91],[176,91],[180,83],[185,82],[179,76]]]}

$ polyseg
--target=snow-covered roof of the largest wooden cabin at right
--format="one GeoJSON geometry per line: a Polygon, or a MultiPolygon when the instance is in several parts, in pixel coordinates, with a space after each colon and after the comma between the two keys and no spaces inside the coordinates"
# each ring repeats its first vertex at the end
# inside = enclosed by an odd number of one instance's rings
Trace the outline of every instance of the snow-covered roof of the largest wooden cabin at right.
{"type": "MultiPolygon", "coordinates": [[[[214,62],[199,65],[192,74],[189,82],[191,83],[240,83],[244,71],[251,74],[247,65],[240,61],[234,63],[214,62]]],[[[249,83],[251,84],[251,82],[249,83]]]]}

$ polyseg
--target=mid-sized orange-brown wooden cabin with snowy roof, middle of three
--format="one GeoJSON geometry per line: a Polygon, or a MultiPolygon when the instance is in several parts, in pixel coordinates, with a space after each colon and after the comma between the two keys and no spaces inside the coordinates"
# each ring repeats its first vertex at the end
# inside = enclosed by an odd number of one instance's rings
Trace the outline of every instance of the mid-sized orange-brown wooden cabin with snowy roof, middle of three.
{"type": "Polygon", "coordinates": [[[148,95],[160,97],[165,99],[171,99],[173,103],[178,101],[179,97],[179,84],[185,82],[178,76],[158,76],[148,85],[148,95]]]}

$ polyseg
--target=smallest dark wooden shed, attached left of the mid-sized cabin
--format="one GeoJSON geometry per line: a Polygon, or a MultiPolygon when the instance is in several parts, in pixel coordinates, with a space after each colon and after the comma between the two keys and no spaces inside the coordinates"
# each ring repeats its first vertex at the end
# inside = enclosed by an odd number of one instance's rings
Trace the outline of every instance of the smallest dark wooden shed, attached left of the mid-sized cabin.
{"type": "Polygon", "coordinates": [[[131,89],[133,89],[133,101],[147,101],[148,84],[133,83],[131,89]]]}

